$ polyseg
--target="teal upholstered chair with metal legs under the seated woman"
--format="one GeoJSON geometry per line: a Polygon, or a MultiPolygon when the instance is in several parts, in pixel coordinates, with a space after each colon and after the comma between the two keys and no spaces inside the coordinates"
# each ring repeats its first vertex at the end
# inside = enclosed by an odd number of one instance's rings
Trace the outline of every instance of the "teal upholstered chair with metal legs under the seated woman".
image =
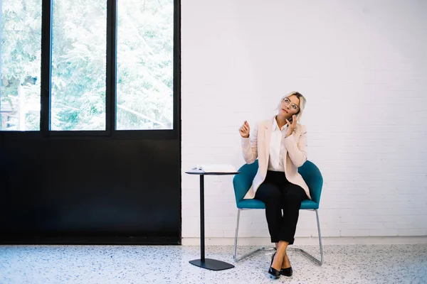
{"type": "MultiPolygon", "coordinates": [[[[234,194],[236,195],[236,205],[238,208],[236,236],[234,237],[234,256],[233,256],[234,261],[236,262],[241,261],[243,258],[247,258],[248,256],[251,256],[253,255],[253,253],[256,253],[258,251],[268,250],[268,248],[262,247],[260,249],[256,249],[255,251],[251,251],[250,253],[247,253],[244,256],[241,256],[241,257],[237,256],[238,223],[239,223],[241,211],[249,210],[249,209],[265,209],[264,202],[260,200],[255,200],[255,199],[243,200],[243,197],[245,197],[246,192],[248,192],[248,190],[251,188],[252,181],[253,181],[253,178],[255,178],[255,174],[257,170],[258,170],[258,160],[255,160],[254,163],[243,165],[238,170],[240,174],[236,175],[233,178],[234,194]]],[[[317,231],[319,233],[320,260],[310,255],[310,253],[307,253],[302,249],[296,249],[296,250],[300,251],[304,256],[307,256],[307,258],[310,258],[310,260],[314,261],[319,266],[322,266],[323,246],[322,246],[322,236],[320,234],[319,213],[317,212],[317,209],[319,209],[319,204],[320,204],[320,194],[322,193],[322,185],[323,185],[322,174],[320,173],[319,168],[317,168],[317,166],[314,163],[310,162],[310,160],[307,160],[304,163],[304,165],[298,168],[298,173],[300,173],[302,178],[305,180],[305,183],[307,183],[310,189],[310,196],[312,197],[312,200],[302,201],[300,209],[316,212],[317,231]]]]}

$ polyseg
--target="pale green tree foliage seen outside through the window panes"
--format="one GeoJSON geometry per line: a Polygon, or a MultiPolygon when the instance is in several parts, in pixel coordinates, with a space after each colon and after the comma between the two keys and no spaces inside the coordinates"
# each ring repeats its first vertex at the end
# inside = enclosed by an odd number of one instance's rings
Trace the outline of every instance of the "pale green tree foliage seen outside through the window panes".
{"type": "MultiPolygon", "coordinates": [[[[117,9],[117,129],[170,128],[173,2],[117,9]]],[[[106,1],[53,1],[53,130],[105,129],[106,14],[106,1]]],[[[1,109],[17,111],[24,86],[26,130],[38,130],[41,0],[4,0],[1,20],[1,109]]]]}

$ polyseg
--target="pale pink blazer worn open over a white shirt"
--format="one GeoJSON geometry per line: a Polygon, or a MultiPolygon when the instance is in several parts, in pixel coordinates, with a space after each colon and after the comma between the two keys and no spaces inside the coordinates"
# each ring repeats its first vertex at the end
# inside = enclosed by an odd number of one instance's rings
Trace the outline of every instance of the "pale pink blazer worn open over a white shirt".
{"type": "MultiPolygon", "coordinates": [[[[251,164],[258,158],[259,165],[252,186],[243,199],[253,199],[256,190],[264,182],[267,175],[273,119],[261,121],[255,126],[251,136],[242,137],[243,158],[246,163],[251,164]]],[[[285,176],[293,184],[300,185],[311,200],[310,190],[297,170],[307,160],[307,131],[305,126],[297,124],[295,131],[290,136],[283,138],[283,141],[285,143],[285,152],[283,153],[285,176]]]]}

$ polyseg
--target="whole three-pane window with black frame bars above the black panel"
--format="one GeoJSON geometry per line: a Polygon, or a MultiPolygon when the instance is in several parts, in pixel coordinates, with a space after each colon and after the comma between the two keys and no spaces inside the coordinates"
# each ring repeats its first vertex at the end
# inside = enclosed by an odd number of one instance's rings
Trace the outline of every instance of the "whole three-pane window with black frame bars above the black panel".
{"type": "Polygon", "coordinates": [[[0,131],[173,130],[176,3],[0,0],[0,131]]]}

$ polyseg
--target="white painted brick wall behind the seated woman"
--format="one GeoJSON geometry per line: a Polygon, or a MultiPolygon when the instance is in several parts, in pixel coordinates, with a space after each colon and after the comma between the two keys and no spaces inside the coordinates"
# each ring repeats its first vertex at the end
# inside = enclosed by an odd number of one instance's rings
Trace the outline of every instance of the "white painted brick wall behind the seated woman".
{"type": "MultiPolygon", "coordinates": [[[[244,162],[238,127],[307,97],[323,236],[427,235],[427,1],[182,0],[182,236],[201,163],[244,162]]],[[[206,236],[234,236],[232,177],[206,177],[206,236]]],[[[316,236],[301,212],[297,236],[316,236]]],[[[267,237],[263,211],[241,236],[267,237]]]]}

